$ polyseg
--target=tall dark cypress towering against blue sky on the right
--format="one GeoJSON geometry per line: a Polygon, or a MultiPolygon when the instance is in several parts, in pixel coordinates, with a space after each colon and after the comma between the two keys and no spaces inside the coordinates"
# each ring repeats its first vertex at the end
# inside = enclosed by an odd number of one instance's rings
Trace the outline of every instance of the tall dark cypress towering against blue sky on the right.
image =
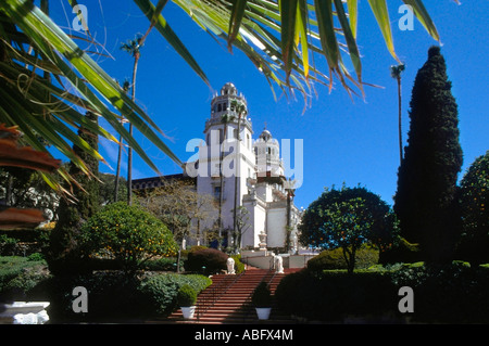
{"type": "Polygon", "coordinates": [[[457,106],[439,47],[428,50],[416,75],[410,108],[394,212],[402,236],[419,244],[423,259],[444,261],[451,259],[459,231],[455,195],[463,155],[457,106]]]}

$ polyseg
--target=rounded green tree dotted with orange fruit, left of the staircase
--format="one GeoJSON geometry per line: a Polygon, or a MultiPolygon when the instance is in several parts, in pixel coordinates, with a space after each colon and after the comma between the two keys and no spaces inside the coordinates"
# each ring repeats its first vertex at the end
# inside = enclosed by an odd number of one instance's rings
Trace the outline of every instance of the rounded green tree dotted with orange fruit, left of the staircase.
{"type": "Polygon", "coordinates": [[[106,256],[121,261],[128,271],[154,256],[174,256],[178,251],[162,221],[125,202],[110,204],[93,215],[76,241],[83,258],[106,256]]]}

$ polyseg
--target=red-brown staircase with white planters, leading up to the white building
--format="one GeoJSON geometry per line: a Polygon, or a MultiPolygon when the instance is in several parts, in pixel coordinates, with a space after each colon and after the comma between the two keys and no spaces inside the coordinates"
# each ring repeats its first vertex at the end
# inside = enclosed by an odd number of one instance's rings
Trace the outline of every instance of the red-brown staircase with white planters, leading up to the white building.
{"type": "Polygon", "coordinates": [[[275,305],[269,319],[259,321],[251,305],[251,294],[261,281],[265,281],[273,295],[280,280],[297,270],[299,269],[284,269],[284,273],[275,273],[273,270],[249,268],[241,274],[213,275],[212,284],[197,299],[193,319],[185,320],[178,309],[168,317],[168,321],[205,324],[291,323],[290,317],[279,311],[275,305]]]}

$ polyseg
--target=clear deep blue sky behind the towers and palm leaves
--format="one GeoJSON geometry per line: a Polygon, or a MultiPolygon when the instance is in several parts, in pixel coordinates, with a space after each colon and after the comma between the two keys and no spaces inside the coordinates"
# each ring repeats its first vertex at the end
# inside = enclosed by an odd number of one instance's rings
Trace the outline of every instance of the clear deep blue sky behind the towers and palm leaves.
{"type": "MultiPolygon", "coordinates": [[[[74,14],[66,1],[52,1],[51,15],[66,27],[74,14]]],[[[97,41],[104,44],[113,59],[95,55],[99,64],[121,82],[131,77],[133,60],[120,50],[121,43],[136,34],[146,33],[149,22],[133,1],[78,0],[87,5],[88,26],[97,41]]],[[[337,86],[330,93],[317,85],[317,95],[303,112],[302,97],[291,100],[281,95],[274,100],[266,79],[239,51],[229,54],[226,46],[217,44],[175,4],[168,3],[164,16],[193,54],[209,77],[210,89],[179,57],[156,30],[148,37],[141,50],[137,75],[137,102],[172,140],[168,146],[181,161],[193,153],[186,152],[187,142],[203,138],[204,121],[210,117],[214,91],[231,81],[248,100],[249,117],[254,137],[267,129],[279,141],[303,140],[303,183],[296,192],[296,205],[308,207],[325,187],[361,184],[379,194],[388,204],[397,189],[399,166],[397,84],[390,77],[390,66],[397,62],[385,47],[366,0],[359,1],[359,37],[363,55],[363,79],[383,88],[365,88],[365,99],[350,99],[337,86]]],[[[461,177],[474,159],[489,150],[489,98],[486,59],[489,54],[487,0],[424,1],[441,36],[441,52],[447,60],[452,92],[459,105],[461,145],[464,166],[461,177]]],[[[438,44],[415,21],[413,30],[400,30],[398,13],[402,1],[389,1],[389,12],[396,50],[405,63],[402,75],[403,140],[408,140],[409,102],[418,68],[427,59],[427,50],[438,44]]],[[[325,68],[323,66],[322,68],[325,68]]],[[[163,174],[179,172],[178,167],[138,133],[142,148],[163,174]]],[[[102,142],[101,152],[115,167],[116,145],[102,142]]],[[[293,162],[291,163],[293,167],[293,162]]],[[[111,169],[104,165],[102,171],[111,169]]],[[[123,167],[124,176],[126,167],[123,167]]],[[[134,178],[154,176],[139,157],[135,157],[134,178]]]]}

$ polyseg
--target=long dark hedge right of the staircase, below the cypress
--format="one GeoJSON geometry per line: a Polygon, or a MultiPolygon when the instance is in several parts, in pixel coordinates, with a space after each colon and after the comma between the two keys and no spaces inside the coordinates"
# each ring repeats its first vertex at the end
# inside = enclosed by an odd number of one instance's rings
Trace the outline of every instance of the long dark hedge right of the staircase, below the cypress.
{"type": "Polygon", "coordinates": [[[489,322],[489,268],[466,262],[376,266],[353,274],[304,269],[284,278],[275,295],[281,309],[312,320],[389,316],[393,321],[410,317],[422,323],[489,322]],[[413,313],[398,310],[402,286],[413,289],[413,313]]]}

